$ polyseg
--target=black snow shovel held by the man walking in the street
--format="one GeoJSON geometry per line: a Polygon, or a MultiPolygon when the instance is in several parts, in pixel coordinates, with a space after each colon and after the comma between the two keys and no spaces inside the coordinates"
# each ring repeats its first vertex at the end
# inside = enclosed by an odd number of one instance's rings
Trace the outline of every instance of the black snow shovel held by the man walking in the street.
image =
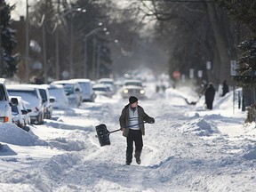
{"type": "MultiPolygon", "coordinates": [[[[142,122],[140,124],[146,124],[148,122],[142,122]]],[[[125,127],[125,128],[130,128],[132,126],[136,126],[138,124],[132,124],[131,126],[125,127]]],[[[114,130],[112,132],[118,132],[121,131],[120,129],[114,130]]],[[[107,129],[106,124],[99,124],[96,126],[96,132],[97,136],[100,142],[100,147],[105,146],[105,145],[110,145],[110,140],[109,140],[109,134],[112,132],[109,132],[107,129]]]]}

